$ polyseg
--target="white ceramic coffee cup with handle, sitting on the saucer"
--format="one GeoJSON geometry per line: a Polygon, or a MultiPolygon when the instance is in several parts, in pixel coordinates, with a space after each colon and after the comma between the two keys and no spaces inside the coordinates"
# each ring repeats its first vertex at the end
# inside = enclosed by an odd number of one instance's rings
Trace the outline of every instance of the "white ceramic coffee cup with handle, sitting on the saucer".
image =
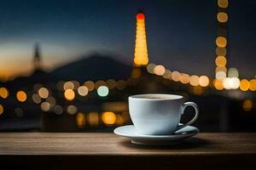
{"type": "Polygon", "coordinates": [[[189,126],[198,117],[198,106],[194,102],[183,103],[183,96],[174,94],[137,94],[129,97],[131,121],[138,133],[165,135],[189,126]],[[179,125],[187,106],[195,109],[194,118],[179,125]]]}

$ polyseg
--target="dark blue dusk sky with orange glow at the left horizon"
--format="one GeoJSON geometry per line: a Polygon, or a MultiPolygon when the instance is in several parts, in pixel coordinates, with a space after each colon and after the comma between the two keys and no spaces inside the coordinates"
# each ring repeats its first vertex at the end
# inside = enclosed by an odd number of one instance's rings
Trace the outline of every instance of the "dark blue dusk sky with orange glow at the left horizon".
{"type": "MultiPolygon", "coordinates": [[[[255,8],[253,0],[230,1],[229,65],[241,77],[256,74],[255,8]]],[[[149,62],[213,77],[217,0],[0,1],[0,77],[31,71],[34,42],[48,71],[94,52],[131,65],[138,9],[149,62]]]]}

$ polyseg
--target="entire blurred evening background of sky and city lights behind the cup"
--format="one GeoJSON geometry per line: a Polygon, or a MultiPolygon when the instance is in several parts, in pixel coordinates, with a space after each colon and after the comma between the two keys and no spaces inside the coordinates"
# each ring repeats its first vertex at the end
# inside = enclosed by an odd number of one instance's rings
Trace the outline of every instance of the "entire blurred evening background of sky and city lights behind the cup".
{"type": "Polygon", "coordinates": [[[201,132],[255,132],[254,8],[3,0],[0,131],[111,132],[131,124],[129,95],[164,93],[199,105],[201,132]]]}

